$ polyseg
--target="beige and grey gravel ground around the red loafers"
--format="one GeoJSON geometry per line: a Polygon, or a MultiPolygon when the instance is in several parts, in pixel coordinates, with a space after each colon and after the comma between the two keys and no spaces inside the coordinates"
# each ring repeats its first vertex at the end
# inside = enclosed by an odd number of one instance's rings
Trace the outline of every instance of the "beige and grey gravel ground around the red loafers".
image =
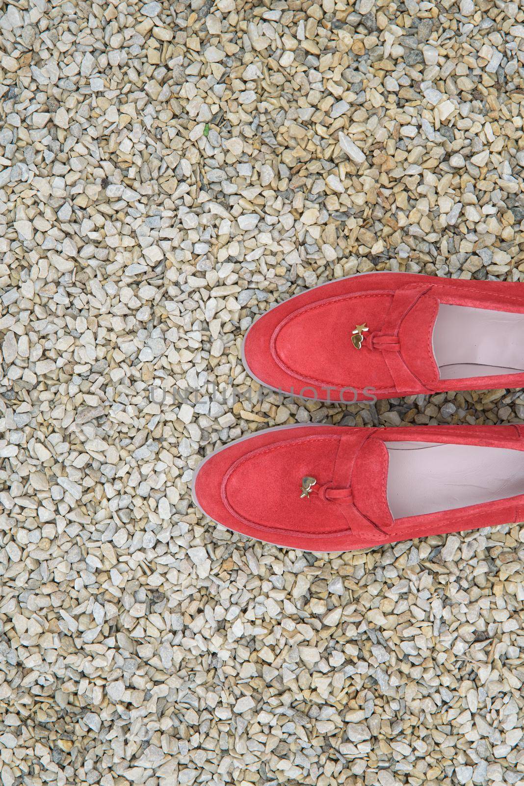
{"type": "Polygon", "coordinates": [[[524,281],[522,2],[16,0],[0,38],[2,786],[524,784],[522,527],[322,556],[189,493],[265,426],[524,420],[240,362],[333,278],[524,281]]]}

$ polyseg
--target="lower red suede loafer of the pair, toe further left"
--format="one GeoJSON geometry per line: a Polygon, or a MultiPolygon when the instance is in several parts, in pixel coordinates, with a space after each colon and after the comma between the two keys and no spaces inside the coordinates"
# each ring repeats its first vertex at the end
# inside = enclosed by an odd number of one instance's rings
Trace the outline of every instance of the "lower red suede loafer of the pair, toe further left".
{"type": "Polygon", "coordinates": [[[524,428],[269,428],[207,457],[193,498],[224,527],[309,551],[513,523],[524,428]]]}

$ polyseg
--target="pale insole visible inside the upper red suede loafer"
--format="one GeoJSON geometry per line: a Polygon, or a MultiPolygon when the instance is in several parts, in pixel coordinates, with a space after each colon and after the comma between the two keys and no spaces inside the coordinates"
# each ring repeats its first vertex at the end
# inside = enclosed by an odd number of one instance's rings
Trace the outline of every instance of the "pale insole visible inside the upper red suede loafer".
{"type": "Polygon", "coordinates": [[[441,380],[524,371],[524,314],[438,307],[433,352],[441,380]]]}

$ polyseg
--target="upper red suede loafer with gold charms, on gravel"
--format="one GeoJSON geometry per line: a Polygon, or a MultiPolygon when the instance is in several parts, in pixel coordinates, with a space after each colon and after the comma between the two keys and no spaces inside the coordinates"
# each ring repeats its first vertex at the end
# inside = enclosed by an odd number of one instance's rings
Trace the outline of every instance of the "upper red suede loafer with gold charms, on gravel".
{"type": "Polygon", "coordinates": [[[524,387],[524,285],[342,278],[263,314],[242,358],[260,384],[318,401],[524,387]]]}

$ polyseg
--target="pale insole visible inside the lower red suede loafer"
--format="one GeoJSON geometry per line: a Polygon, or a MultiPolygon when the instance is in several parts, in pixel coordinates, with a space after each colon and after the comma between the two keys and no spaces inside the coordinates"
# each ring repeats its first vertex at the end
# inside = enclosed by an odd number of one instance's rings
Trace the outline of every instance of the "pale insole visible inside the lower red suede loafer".
{"type": "Polygon", "coordinates": [[[419,442],[386,447],[394,519],[524,494],[524,451],[419,442]]]}

